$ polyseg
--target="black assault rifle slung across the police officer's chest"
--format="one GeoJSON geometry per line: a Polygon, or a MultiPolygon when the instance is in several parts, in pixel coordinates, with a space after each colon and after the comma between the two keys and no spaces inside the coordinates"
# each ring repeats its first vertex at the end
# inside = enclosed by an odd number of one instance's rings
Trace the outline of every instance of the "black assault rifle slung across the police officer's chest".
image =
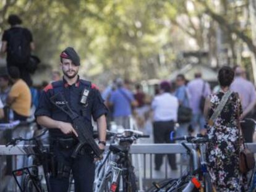
{"type": "Polygon", "coordinates": [[[84,146],[84,144],[89,144],[92,148],[92,151],[96,157],[101,157],[102,150],[98,147],[98,144],[95,143],[93,138],[92,132],[87,127],[87,122],[85,122],[84,118],[74,111],[70,109],[64,95],[59,92],[50,98],[50,101],[54,104],[54,106],[58,107],[69,115],[70,119],[72,120],[72,126],[74,127],[75,131],[78,135],[79,144],[75,147],[75,150],[71,157],[77,157],[80,149],[84,146]]]}

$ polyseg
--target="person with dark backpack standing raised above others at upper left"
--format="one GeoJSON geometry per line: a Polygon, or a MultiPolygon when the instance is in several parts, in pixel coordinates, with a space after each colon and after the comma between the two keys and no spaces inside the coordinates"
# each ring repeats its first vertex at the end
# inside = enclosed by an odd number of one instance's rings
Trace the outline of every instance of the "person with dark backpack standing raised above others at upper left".
{"type": "Polygon", "coordinates": [[[1,52],[7,52],[7,69],[19,68],[20,77],[30,86],[32,81],[28,68],[31,51],[35,49],[32,33],[21,27],[22,20],[17,15],[9,15],[8,23],[11,28],[2,35],[1,52]]]}

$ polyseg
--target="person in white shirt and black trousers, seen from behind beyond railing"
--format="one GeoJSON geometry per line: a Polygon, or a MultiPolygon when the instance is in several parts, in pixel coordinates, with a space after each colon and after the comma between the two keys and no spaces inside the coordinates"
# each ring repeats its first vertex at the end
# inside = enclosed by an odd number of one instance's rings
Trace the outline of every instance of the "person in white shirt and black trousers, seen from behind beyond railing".
{"type": "MultiPolygon", "coordinates": [[[[151,107],[153,109],[153,133],[155,143],[172,143],[170,133],[177,121],[178,99],[169,93],[171,86],[168,81],[160,84],[160,94],[155,96],[151,107]]],[[[169,165],[177,170],[175,154],[168,154],[169,165]]],[[[155,155],[155,170],[160,170],[163,164],[163,154],[155,155]]]]}

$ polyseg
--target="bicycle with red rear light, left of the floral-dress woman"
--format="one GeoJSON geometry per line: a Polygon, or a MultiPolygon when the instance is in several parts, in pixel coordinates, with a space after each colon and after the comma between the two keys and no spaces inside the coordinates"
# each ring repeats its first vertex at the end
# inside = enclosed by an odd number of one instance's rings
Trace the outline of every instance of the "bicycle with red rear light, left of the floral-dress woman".
{"type": "Polygon", "coordinates": [[[205,161],[205,154],[203,147],[208,143],[207,136],[183,136],[180,138],[173,138],[171,133],[171,140],[185,140],[192,144],[190,149],[186,143],[182,142],[182,146],[186,149],[189,159],[189,170],[182,175],[181,178],[169,178],[160,183],[153,183],[153,186],[148,192],[195,192],[195,191],[213,191],[210,175],[207,171],[207,162],[205,161]],[[193,146],[195,144],[195,148],[193,146]]]}

